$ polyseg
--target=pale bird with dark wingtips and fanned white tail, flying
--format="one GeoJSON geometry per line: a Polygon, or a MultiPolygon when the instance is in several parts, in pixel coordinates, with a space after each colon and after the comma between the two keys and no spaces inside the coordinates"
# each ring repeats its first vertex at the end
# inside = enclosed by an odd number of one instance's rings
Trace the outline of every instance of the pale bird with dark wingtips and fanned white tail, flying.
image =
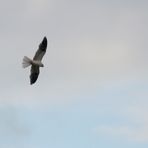
{"type": "Polygon", "coordinates": [[[33,59],[24,56],[22,67],[27,68],[31,66],[30,69],[30,85],[34,84],[39,76],[40,67],[44,67],[44,64],[41,62],[43,56],[46,53],[47,49],[47,38],[46,36],[43,38],[42,42],[39,44],[38,50],[36,51],[33,59]]]}

